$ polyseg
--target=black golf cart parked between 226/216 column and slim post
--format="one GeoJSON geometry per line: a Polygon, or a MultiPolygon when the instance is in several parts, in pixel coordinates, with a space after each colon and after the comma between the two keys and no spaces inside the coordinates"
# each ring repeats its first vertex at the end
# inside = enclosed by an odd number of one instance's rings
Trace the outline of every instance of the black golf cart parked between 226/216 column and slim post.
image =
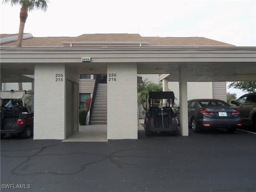
{"type": "Polygon", "coordinates": [[[153,132],[171,132],[174,136],[178,135],[178,125],[172,107],[170,106],[170,101],[172,101],[173,107],[173,92],[149,92],[149,109],[146,109],[144,120],[146,136],[151,136],[153,132]],[[166,99],[167,106],[159,108],[154,104],[154,100],[156,99],[166,99]]]}

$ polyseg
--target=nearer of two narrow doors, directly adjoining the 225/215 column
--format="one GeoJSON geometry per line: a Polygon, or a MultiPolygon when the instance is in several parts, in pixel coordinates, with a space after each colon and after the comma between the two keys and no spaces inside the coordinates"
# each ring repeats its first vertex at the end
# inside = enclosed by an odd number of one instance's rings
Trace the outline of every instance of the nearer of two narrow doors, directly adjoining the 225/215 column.
{"type": "Polygon", "coordinates": [[[72,135],[73,125],[73,82],[66,80],[66,138],[72,135]]]}

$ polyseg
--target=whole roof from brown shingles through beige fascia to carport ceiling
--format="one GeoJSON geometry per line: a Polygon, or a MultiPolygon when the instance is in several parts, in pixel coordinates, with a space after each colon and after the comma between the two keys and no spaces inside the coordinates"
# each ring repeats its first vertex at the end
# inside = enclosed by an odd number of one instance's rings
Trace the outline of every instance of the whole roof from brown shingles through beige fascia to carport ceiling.
{"type": "Polygon", "coordinates": [[[203,37],[142,37],[139,34],[83,34],[78,37],[32,37],[22,47],[14,36],[2,43],[1,82],[31,82],[37,64],[65,64],[79,74],[106,74],[111,63],[134,63],[138,74],[171,74],[179,81],[246,81],[256,79],[256,48],[236,47],[203,37]],[[92,58],[82,62],[81,57],[92,58]]]}

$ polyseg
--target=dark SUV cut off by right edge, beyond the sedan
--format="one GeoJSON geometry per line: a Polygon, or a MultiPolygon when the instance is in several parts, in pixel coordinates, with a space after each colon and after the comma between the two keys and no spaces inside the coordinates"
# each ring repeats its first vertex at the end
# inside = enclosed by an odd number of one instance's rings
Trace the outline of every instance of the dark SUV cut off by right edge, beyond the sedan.
{"type": "Polygon", "coordinates": [[[256,93],[244,94],[231,104],[240,111],[242,124],[253,125],[256,129],[256,93]]]}

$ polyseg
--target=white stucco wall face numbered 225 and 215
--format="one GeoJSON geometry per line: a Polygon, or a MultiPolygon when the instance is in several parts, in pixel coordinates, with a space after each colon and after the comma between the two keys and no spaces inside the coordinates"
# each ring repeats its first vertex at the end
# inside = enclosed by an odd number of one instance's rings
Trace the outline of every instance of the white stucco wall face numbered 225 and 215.
{"type": "Polygon", "coordinates": [[[64,139],[65,81],[64,64],[36,64],[34,139],[64,139]]]}

